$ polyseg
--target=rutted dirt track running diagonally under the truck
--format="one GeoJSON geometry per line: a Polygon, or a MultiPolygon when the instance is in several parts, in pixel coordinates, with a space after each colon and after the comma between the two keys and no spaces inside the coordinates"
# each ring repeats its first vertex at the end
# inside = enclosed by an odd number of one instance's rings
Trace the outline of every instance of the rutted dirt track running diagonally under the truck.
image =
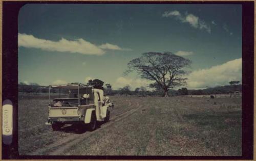
{"type": "MultiPolygon", "coordinates": [[[[80,141],[89,138],[94,133],[100,132],[102,129],[111,126],[115,122],[118,122],[122,119],[125,119],[126,117],[132,115],[136,111],[138,111],[141,108],[141,105],[138,102],[132,103],[130,100],[127,101],[129,106],[127,108],[122,110],[113,110],[113,114],[111,114],[110,121],[101,125],[98,125],[98,128],[94,131],[80,131],[81,133],[69,133],[69,135],[65,138],[62,138],[60,140],[56,140],[56,142],[46,146],[37,149],[36,151],[33,151],[29,153],[28,155],[60,155],[61,152],[68,149],[70,146],[73,146],[80,141]]],[[[76,127],[73,126],[63,126],[62,130],[70,131],[70,130],[76,130],[76,127]]]]}

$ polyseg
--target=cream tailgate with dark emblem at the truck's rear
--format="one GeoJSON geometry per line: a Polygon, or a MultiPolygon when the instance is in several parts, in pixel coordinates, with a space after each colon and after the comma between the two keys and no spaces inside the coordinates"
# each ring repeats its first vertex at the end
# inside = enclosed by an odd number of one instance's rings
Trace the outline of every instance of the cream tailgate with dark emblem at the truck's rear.
{"type": "Polygon", "coordinates": [[[50,108],[49,117],[77,117],[76,107],[74,108],[50,108]]]}

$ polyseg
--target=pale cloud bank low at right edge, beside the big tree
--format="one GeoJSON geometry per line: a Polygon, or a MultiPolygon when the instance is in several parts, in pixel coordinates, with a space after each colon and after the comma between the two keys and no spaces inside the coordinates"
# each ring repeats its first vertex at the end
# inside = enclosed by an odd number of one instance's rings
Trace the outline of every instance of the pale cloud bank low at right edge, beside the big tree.
{"type": "Polygon", "coordinates": [[[230,81],[242,80],[242,59],[228,61],[209,69],[200,69],[187,76],[189,89],[228,85],[230,81]]]}

